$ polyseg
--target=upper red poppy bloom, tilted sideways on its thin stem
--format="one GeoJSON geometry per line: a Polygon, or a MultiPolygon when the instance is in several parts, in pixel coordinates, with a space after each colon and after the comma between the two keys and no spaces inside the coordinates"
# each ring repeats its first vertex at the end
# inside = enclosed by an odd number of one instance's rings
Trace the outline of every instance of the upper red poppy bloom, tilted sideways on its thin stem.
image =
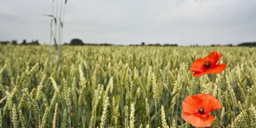
{"type": "Polygon", "coordinates": [[[204,74],[218,74],[221,73],[225,68],[226,64],[217,64],[217,61],[222,57],[222,54],[219,54],[217,52],[211,52],[208,56],[204,57],[204,59],[199,58],[196,59],[191,67],[190,71],[194,72],[193,76],[198,77],[202,76],[204,74]]]}

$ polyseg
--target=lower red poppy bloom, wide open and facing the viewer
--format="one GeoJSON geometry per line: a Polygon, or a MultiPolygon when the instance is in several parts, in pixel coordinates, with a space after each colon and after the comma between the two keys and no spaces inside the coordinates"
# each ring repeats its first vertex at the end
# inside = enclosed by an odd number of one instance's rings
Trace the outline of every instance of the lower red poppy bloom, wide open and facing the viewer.
{"type": "Polygon", "coordinates": [[[182,101],[182,118],[195,127],[210,127],[214,120],[209,113],[220,109],[220,102],[210,94],[189,95],[182,101]]]}

